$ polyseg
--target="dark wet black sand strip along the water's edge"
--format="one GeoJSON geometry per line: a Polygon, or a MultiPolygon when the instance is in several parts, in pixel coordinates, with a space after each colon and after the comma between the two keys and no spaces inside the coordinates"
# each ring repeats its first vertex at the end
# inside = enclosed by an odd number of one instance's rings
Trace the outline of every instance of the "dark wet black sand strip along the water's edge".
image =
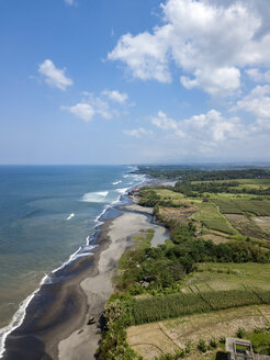
{"type": "Polygon", "coordinates": [[[59,341],[81,325],[87,313],[80,282],[97,271],[100,254],[108,246],[103,235],[110,222],[106,220],[102,225],[93,255],[70,263],[63,280],[41,285],[26,308],[23,323],[8,335],[3,360],[58,359],[59,341]]]}

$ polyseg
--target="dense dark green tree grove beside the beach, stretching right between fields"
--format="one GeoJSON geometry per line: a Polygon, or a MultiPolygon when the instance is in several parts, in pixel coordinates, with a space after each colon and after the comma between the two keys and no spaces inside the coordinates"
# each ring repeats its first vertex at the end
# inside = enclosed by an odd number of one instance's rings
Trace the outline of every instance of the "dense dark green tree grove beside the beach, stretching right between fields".
{"type": "MultiPolygon", "coordinates": [[[[127,250],[114,277],[119,292],[139,294],[146,291],[176,292],[180,281],[196,269],[196,263],[213,262],[269,262],[270,251],[252,243],[230,240],[215,245],[211,240],[194,238],[195,227],[170,224],[172,244],[157,248],[147,240],[127,250]],[[148,243],[149,244],[149,243],[148,243]]],[[[151,235],[151,233],[149,233],[151,235]]]]}

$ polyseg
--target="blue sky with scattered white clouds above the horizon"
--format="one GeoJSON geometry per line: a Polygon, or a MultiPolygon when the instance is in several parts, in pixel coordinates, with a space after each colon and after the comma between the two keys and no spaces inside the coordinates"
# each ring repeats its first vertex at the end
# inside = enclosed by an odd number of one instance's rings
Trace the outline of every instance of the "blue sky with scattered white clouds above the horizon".
{"type": "Polygon", "coordinates": [[[0,0],[0,164],[267,161],[270,2],[0,0]]]}

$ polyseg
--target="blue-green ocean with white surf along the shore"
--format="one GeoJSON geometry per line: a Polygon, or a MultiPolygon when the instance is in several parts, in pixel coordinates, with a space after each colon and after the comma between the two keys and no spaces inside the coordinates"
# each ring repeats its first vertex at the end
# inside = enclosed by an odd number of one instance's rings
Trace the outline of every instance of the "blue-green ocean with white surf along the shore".
{"type": "Polygon", "coordinates": [[[91,254],[106,210],[144,181],[128,166],[0,166],[0,355],[33,292],[91,254]]]}

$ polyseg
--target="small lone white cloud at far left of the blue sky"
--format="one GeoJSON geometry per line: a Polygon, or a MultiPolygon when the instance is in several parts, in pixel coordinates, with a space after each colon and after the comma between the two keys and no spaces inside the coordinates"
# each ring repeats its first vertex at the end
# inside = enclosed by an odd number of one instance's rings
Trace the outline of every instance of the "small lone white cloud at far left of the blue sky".
{"type": "Polygon", "coordinates": [[[38,67],[38,72],[45,77],[45,82],[53,88],[66,90],[74,81],[66,77],[65,69],[57,69],[54,63],[46,59],[38,67]]]}

